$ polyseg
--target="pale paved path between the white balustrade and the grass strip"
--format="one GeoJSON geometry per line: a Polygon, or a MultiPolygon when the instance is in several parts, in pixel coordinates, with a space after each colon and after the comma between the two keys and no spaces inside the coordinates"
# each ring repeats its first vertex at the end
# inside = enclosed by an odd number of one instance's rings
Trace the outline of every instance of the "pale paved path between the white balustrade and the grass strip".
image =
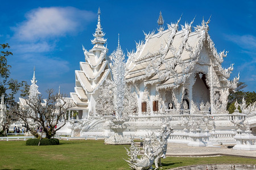
{"type": "Polygon", "coordinates": [[[256,151],[241,151],[228,148],[228,145],[220,147],[192,147],[185,144],[168,143],[168,156],[214,156],[214,155],[235,155],[256,158],[256,151]]]}

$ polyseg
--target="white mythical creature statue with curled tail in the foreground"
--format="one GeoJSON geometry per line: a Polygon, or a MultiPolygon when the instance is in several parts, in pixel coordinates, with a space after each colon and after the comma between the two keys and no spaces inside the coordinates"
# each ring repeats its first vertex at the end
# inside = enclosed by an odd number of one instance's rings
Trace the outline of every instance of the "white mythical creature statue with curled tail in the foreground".
{"type": "Polygon", "coordinates": [[[152,169],[152,164],[155,162],[155,169],[158,169],[161,164],[161,158],[166,158],[167,139],[173,129],[166,124],[162,125],[159,138],[152,132],[144,139],[143,151],[144,154],[139,154],[138,147],[134,145],[132,140],[130,151],[127,150],[127,155],[130,156],[126,162],[131,169],[152,169]],[[138,158],[140,156],[140,158],[138,158]]]}

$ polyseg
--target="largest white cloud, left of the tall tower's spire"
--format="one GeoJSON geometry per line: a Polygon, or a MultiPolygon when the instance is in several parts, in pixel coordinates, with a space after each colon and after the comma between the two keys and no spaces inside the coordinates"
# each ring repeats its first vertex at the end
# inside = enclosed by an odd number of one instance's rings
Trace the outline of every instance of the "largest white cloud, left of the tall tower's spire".
{"type": "Polygon", "coordinates": [[[20,41],[38,41],[76,32],[96,15],[74,7],[36,8],[26,14],[26,20],[13,27],[20,41]]]}

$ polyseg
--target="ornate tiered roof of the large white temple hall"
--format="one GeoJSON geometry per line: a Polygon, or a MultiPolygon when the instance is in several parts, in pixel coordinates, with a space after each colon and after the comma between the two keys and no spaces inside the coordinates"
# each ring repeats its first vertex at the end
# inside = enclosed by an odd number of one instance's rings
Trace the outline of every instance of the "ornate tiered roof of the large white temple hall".
{"type": "Polygon", "coordinates": [[[211,59],[207,64],[213,63],[223,86],[232,87],[228,79],[233,67],[221,67],[226,55],[224,52],[217,53],[214,48],[208,34],[209,20],[203,20],[193,32],[193,21],[182,25],[181,30],[178,30],[179,22],[180,19],[175,24],[168,24],[166,30],[160,27],[158,33],[144,33],[145,40],[137,43],[136,52],[128,54],[126,81],[134,83],[143,80],[144,85],[157,83],[157,89],[178,87],[189,77],[196,63],[207,63],[199,57],[203,50],[207,50],[211,59]]]}

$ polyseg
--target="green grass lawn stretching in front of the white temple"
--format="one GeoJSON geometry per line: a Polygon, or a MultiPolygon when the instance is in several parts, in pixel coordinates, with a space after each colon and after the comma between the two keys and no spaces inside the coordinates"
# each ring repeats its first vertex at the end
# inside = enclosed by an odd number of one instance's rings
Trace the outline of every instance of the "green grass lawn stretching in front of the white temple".
{"type": "MultiPolygon", "coordinates": [[[[0,141],[0,169],[129,169],[124,147],[104,141],[60,141],[58,146],[26,146],[26,141],[0,141]]],[[[163,169],[193,164],[244,163],[256,159],[222,156],[162,159],[163,169]]]]}

